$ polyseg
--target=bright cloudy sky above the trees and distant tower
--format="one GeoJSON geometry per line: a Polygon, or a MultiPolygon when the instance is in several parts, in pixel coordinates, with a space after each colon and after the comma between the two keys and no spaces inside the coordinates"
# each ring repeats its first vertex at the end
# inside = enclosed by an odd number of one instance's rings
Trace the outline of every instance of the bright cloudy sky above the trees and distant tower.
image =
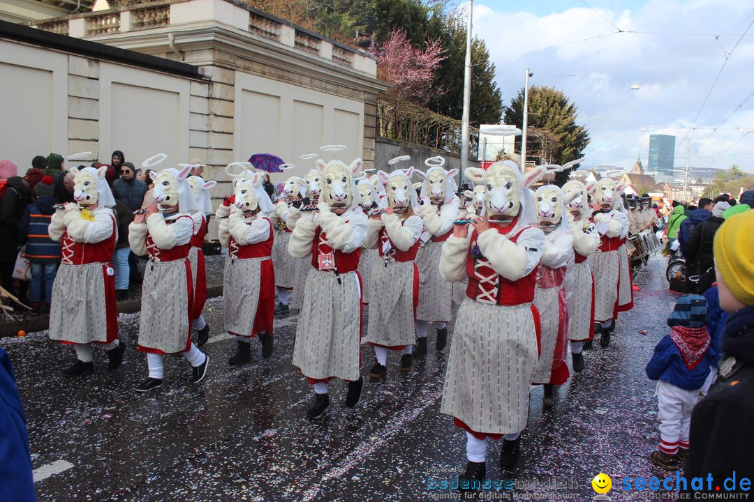
{"type": "Polygon", "coordinates": [[[646,166],[649,135],[671,134],[676,167],[687,137],[692,167],[754,171],[754,2],[584,2],[474,2],[474,34],[486,41],[504,102],[529,67],[532,85],[578,105],[592,138],[586,166],[630,167],[637,156],[646,166]]]}

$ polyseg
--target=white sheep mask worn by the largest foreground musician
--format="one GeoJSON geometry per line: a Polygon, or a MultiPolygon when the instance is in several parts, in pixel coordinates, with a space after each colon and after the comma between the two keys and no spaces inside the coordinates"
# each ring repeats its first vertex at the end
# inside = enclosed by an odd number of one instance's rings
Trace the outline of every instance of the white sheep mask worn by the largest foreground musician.
{"type": "Polygon", "coordinates": [[[537,218],[528,187],[541,178],[544,171],[534,169],[524,177],[516,163],[504,160],[492,164],[487,170],[470,167],[466,169],[466,177],[483,186],[483,214],[487,214],[490,220],[510,220],[520,214],[521,224],[533,225],[537,218]]]}

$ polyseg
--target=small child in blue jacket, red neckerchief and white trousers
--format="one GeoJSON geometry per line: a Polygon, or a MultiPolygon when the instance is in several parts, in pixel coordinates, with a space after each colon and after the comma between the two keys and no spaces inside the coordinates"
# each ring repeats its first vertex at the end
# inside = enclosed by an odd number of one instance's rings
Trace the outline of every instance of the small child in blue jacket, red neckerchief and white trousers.
{"type": "Polygon", "coordinates": [[[716,361],[716,348],[710,345],[706,329],[707,304],[704,297],[687,294],[678,299],[667,319],[670,334],[654,348],[646,373],[659,380],[657,404],[660,412],[660,449],[652,452],[652,464],[667,470],[678,469],[678,458],[688,457],[691,410],[699,400],[716,361]]]}

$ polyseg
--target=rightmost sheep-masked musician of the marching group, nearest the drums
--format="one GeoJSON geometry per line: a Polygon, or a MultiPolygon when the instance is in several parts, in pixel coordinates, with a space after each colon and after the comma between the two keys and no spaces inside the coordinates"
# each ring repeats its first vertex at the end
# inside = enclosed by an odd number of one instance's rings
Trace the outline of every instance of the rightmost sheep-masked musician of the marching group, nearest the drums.
{"type": "Polygon", "coordinates": [[[596,333],[602,333],[599,339],[602,348],[610,344],[621,306],[633,303],[628,255],[625,256],[625,264],[622,263],[624,257],[621,251],[629,227],[626,209],[621,201],[621,192],[625,187],[625,184],[611,178],[602,178],[587,186],[597,205],[593,221],[600,245],[595,253],[590,254],[588,261],[594,274],[594,329],[596,333]],[[628,297],[628,301],[625,297],[628,297]]]}

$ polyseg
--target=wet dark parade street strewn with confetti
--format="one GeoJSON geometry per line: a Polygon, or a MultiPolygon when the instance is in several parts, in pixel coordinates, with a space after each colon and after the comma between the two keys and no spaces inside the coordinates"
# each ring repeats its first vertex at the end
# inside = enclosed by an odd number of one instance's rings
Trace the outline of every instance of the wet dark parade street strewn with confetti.
{"type": "MultiPolygon", "coordinates": [[[[524,494],[590,500],[591,480],[600,472],[613,480],[612,500],[626,500],[625,476],[664,477],[648,461],[658,440],[657,400],[644,367],[667,333],[667,312],[676,300],[667,291],[665,265],[658,255],[636,275],[641,291],[635,308],[621,314],[609,348],[595,341],[585,352],[586,369],[559,389],[552,409],[543,411],[541,387],[532,388],[516,470],[501,472],[499,444],[490,443],[488,479],[513,479],[515,485],[507,494],[486,492],[486,500],[524,494]]],[[[310,421],[311,386],[291,365],[296,315],[276,318],[270,359],[262,361],[254,341],[253,364],[233,368],[227,361],[235,342],[222,332],[222,299],[209,300],[205,315],[212,328],[204,346],[208,378],[190,385],[182,358],[168,357],[163,388],[147,395],[133,391],[146,375],[146,357],[136,351],[138,314],[120,317],[121,340],[128,345],[121,370],[107,373],[106,358],[96,349],[94,374],[78,377],[76,385],[61,374],[72,357],[66,345],[44,333],[0,340],[26,408],[38,500],[458,496],[434,488],[455,479],[466,464],[464,434],[438,411],[448,349],[434,350],[434,329],[427,356],[402,374],[400,358],[391,354],[382,382],[366,379],[372,350],[363,345],[366,382],[359,406],[346,409],[345,384],[333,382],[328,415],[310,421]]]]}

